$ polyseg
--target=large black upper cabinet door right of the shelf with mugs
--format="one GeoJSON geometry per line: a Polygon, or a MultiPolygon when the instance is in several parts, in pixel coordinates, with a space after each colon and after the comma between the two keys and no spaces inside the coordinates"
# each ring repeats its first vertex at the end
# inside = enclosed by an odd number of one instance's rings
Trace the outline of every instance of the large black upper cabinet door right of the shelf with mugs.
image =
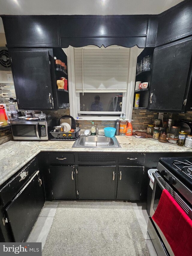
{"type": "Polygon", "coordinates": [[[155,48],[148,110],[184,112],[191,55],[192,37],[155,48]]]}

